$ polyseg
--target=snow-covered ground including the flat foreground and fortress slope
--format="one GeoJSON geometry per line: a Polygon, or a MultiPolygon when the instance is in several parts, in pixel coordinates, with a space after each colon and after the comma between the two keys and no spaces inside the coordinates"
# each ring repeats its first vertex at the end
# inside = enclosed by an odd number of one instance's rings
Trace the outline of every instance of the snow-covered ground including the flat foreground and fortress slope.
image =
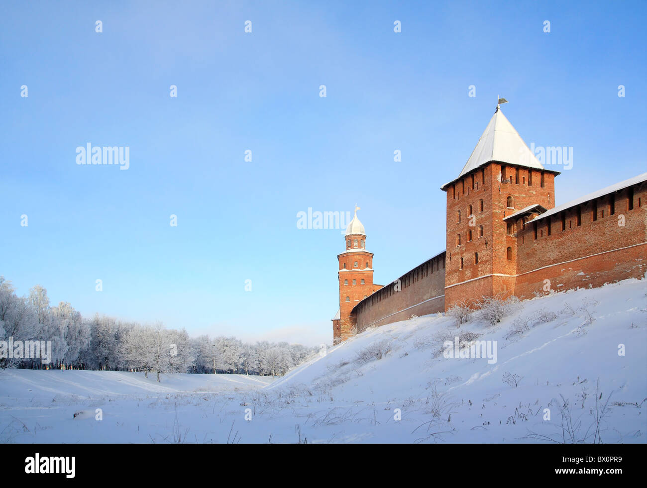
{"type": "Polygon", "coordinates": [[[495,326],[457,329],[441,314],[389,324],[274,382],[3,370],[0,441],[590,442],[597,411],[603,442],[644,443],[646,348],[647,281],[632,279],[521,302],[495,326]],[[527,330],[510,336],[520,319],[527,330]],[[444,340],[468,333],[497,341],[496,363],[443,357],[444,340]]]}

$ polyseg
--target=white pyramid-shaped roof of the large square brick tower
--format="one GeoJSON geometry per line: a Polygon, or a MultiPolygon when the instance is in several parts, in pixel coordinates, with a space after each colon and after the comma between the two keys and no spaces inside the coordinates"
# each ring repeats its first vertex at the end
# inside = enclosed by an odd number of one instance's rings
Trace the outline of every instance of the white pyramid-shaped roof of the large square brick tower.
{"type": "MultiPolygon", "coordinates": [[[[490,161],[544,169],[526,143],[523,142],[519,133],[512,127],[510,121],[505,118],[501,109],[494,112],[458,178],[490,161]]],[[[444,189],[454,181],[444,184],[441,188],[444,189]]]]}

